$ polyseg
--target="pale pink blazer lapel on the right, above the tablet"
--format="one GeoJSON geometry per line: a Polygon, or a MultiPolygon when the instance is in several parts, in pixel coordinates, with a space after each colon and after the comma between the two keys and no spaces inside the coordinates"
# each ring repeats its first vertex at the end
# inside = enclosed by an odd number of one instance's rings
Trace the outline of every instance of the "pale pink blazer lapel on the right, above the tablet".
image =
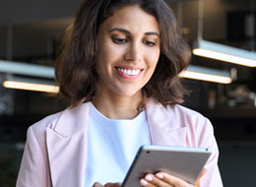
{"type": "Polygon", "coordinates": [[[175,119],[178,116],[171,109],[150,99],[146,102],[146,113],[154,145],[186,145],[186,127],[175,119]]]}

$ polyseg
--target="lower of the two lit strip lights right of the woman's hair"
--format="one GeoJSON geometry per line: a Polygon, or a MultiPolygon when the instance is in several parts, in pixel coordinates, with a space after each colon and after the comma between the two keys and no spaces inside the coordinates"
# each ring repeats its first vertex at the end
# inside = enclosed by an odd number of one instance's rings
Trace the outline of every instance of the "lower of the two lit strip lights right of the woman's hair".
{"type": "Polygon", "coordinates": [[[179,77],[220,84],[230,84],[232,82],[231,75],[227,71],[194,65],[188,66],[187,70],[181,72],[179,77]]]}

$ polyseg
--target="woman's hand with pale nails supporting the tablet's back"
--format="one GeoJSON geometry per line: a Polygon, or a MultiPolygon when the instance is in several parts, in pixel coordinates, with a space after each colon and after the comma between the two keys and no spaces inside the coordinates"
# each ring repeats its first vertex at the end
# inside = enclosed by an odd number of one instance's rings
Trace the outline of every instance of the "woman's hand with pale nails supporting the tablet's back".
{"type": "Polygon", "coordinates": [[[147,174],[141,179],[140,184],[145,187],[200,187],[200,179],[205,173],[206,169],[204,168],[194,185],[165,172],[159,172],[155,175],[147,174]]]}

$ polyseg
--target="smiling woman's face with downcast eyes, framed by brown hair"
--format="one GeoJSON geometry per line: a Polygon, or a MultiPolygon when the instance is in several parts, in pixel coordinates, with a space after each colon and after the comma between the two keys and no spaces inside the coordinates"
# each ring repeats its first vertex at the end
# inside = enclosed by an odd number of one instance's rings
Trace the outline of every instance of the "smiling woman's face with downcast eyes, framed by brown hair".
{"type": "Polygon", "coordinates": [[[141,94],[159,61],[159,23],[136,6],[118,10],[101,24],[97,47],[101,94],[141,94]]]}

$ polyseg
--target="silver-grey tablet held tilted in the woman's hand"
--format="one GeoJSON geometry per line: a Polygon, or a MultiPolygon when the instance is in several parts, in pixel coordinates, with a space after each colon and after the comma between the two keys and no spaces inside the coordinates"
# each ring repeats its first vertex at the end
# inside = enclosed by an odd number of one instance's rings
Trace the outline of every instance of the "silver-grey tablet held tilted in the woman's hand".
{"type": "Polygon", "coordinates": [[[122,187],[141,187],[147,173],[164,171],[194,184],[211,151],[204,148],[142,146],[130,166],[122,187]]]}

